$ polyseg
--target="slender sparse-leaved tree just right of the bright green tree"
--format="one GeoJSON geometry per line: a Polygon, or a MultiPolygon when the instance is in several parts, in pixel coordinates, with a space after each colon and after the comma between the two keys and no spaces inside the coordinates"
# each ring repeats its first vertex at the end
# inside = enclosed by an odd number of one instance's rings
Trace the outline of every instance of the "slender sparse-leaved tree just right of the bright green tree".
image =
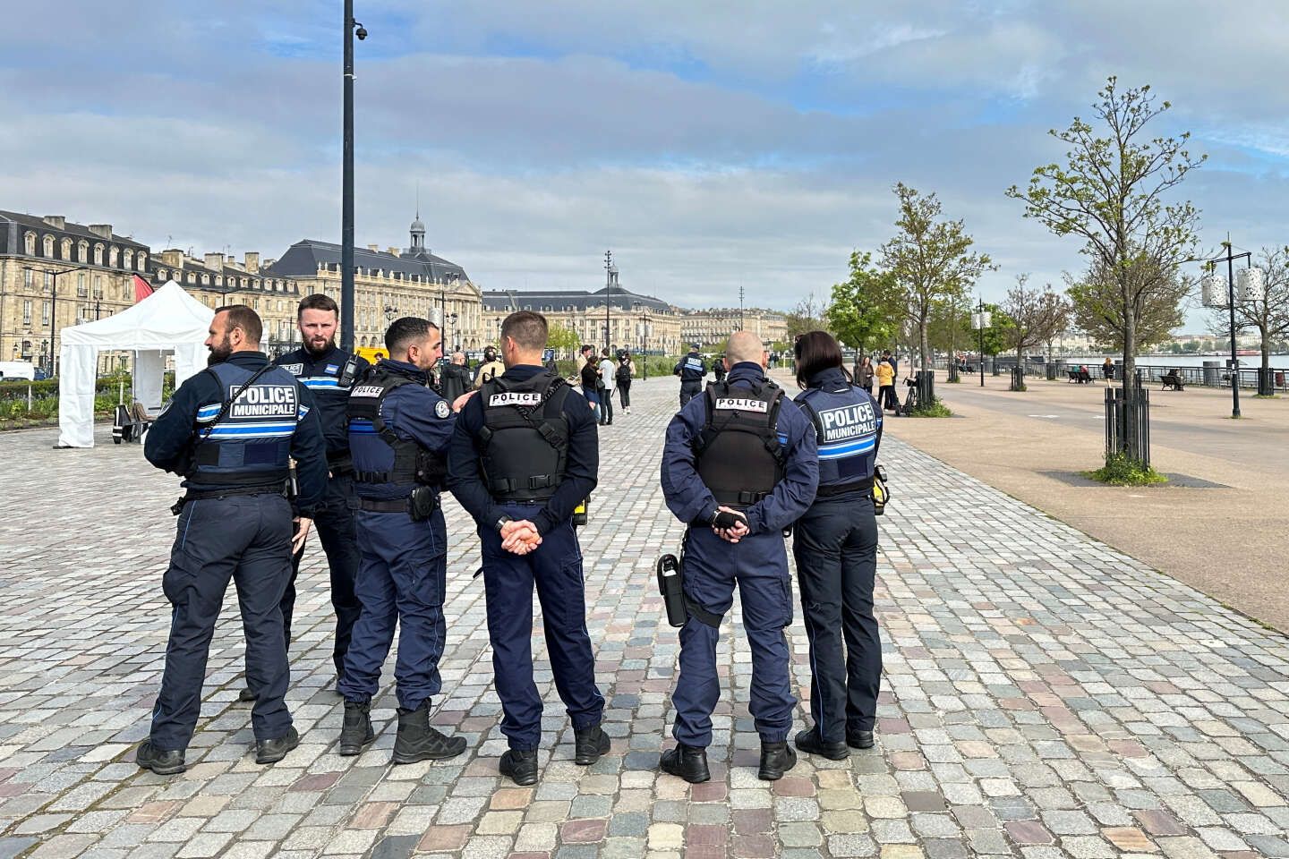
{"type": "Polygon", "coordinates": [[[880,249],[882,268],[893,278],[893,304],[914,325],[922,366],[928,367],[932,314],[945,304],[964,304],[976,279],[994,267],[986,254],[971,251],[974,240],[963,222],[941,218],[935,193],[923,196],[901,182],[895,194],[898,232],[880,249]]]}

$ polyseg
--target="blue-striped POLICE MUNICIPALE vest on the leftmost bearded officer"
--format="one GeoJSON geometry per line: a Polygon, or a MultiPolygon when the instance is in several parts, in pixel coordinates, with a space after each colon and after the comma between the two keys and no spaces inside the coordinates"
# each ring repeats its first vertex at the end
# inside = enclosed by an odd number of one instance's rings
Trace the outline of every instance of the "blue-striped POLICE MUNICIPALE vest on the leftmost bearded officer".
{"type": "Polygon", "coordinates": [[[259,370],[224,362],[202,372],[219,380],[222,399],[197,408],[197,443],[186,478],[218,486],[285,483],[291,437],[308,413],[295,376],[268,367],[226,410],[224,403],[259,370]]]}

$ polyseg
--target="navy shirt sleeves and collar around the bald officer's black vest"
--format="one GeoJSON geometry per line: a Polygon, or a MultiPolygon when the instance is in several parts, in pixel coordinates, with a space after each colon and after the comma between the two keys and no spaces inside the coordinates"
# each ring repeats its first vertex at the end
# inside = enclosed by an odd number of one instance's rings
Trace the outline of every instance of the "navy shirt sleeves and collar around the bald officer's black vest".
{"type": "MultiPolygon", "coordinates": [[[[750,388],[764,380],[761,364],[750,361],[736,363],[726,380],[731,388],[750,388]]],[[[663,446],[663,496],[666,506],[681,522],[710,522],[717,514],[717,500],[699,477],[693,440],[708,420],[708,398],[695,397],[666,428],[663,446]]],[[[797,522],[815,500],[819,486],[819,452],[815,447],[815,425],[802,415],[797,403],[784,397],[775,426],[784,448],[784,479],[773,491],[748,507],[751,533],[782,531],[797,522]]]]}

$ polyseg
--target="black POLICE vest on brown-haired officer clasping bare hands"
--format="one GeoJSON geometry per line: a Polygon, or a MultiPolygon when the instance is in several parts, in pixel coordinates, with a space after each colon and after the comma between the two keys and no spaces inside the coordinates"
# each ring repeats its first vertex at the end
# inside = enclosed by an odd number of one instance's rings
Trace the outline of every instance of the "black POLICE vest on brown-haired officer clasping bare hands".
{"type": "Polygon", "coordinates": [[[545,501],[554,495],[568,462],[567,397],[568,385],[550,372],[483,382],[480,466],[494,498],[545,501]]]}

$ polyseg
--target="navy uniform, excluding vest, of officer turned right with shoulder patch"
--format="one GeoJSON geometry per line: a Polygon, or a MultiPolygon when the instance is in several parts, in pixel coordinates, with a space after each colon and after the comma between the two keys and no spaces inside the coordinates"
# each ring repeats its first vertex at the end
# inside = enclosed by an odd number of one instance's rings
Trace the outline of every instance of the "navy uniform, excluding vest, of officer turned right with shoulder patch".
{"type": "MultiPolygon", "coordinates": [[[[391,390],[380,403],[380,419],[400,439],[432,453],[446,453],[456,416],[428,386],[429,376],[403,361],[382,359],[367,380],[351,393],[358,397],[383,375],[411,380],[391,390]]],[[[393,448],[367,420],[349,421],[349,452],[357,475],[358,578],[362,604],[353,640],[344,658],[338,689],[347,701],[370,701],[380,685],[380,668],[398,628],[394,679],[398,706],[418,710],[442,689],[438,659],[447,625],[443,591],[447,578],[447,531],[443,511],[412,522],[407,500],[412,486],[393,479],[367,482],[365,475],[391,474],[393,448]]],[[[437,489],[436,489],[437,496],[437,489]]]]}

